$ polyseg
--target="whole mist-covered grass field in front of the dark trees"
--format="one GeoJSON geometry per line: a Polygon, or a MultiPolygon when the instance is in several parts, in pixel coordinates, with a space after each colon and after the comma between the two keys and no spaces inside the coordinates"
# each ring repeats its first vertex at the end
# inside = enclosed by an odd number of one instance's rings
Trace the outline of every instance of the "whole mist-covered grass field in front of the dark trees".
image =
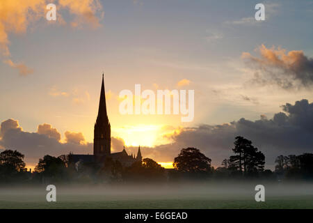
{"type": "Polygon", "coordinates": [[[0,208],[313,208],[313,186],[265,185],[266,201],[255,201],[253,184],[175,186],[57,186],[47,202],[45,186],[0,188],[0,208]]]}

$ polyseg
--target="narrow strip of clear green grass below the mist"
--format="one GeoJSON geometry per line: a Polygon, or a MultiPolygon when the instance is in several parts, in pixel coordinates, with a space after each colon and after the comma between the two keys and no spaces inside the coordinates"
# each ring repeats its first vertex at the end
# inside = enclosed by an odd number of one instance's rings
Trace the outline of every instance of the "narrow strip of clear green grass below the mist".
{"type": "Polygon", "coordinates": [[[267,199],[265,202],[252,200],[209,200],[209,199],[154,199],[154,200],[118,200],[118,201],[0,201],[0,208],[105,208],[105,209],[209,209],[209,208],[269,208],[294,209],[313,208],[313,197],[287,197],[267,199]]]}

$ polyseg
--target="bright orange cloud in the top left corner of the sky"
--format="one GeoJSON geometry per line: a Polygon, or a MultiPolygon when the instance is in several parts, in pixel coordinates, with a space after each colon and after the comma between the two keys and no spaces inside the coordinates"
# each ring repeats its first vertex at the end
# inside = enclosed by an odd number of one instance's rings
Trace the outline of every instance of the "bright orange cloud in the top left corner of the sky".
{"type": "MultiPolygon", "coordinates": [[[[57,21],[66,24],[58,8],[64,8],[74,15],[71,22],[74,27],[83,24],[97,28],[99,20],[103,17],[102,6],[98,0],[1,0],[0,5],[0,53],[10,57],[10,33],[25,33],[30,24],[45,20],[46,6],[48,3],[56,3],[57,21]],[[58,7],[60,6],[60,7],[58,7]]],[[[9,66],[17,68],[19,75],[26,76],[33,72],[24,63],[14,63],[11,59],[4,61],[9,66]]]]}

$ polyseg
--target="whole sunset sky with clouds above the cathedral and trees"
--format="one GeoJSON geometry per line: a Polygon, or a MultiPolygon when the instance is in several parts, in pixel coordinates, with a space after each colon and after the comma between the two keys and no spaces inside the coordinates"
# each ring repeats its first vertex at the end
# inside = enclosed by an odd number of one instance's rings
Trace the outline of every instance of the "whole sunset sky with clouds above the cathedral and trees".
{"type": "Polygon", "coordinates": [[[243,135],[266,155],[313,150],[312,1],[3,0],[0,149],[33,167],[93,153],[104,72],[112,150],[164,165],[199,148],[214,167],[243,135]],[[56,4],[56,21],[45,6],[56,4]],[[255,20],[264,3],[265,21],[255,20]],[[122,115],[120,91],[194,90],[195,116],[122,115]]]}

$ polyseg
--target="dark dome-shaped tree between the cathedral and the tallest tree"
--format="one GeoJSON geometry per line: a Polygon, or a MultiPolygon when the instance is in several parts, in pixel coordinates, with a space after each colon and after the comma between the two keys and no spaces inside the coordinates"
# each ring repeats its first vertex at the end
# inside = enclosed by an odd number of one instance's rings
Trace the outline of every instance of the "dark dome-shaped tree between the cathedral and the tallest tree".
{"type": "Polygon", "coordinates": [[[173,166],[183,172],[211,171],[211,159],[197,148],[183,148],[179,155],[175,157],[173,166]]]}

